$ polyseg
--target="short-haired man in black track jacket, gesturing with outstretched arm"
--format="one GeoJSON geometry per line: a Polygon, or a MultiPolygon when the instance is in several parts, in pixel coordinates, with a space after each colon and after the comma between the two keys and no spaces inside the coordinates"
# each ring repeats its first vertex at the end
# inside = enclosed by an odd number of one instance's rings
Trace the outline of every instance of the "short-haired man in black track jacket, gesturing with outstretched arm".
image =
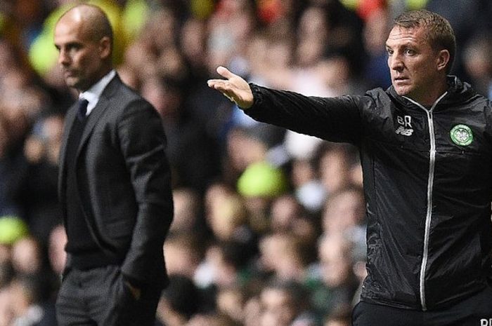
{"type": "Polygon", "coordinates": [[[209,87],[253,118],[355,144],[367,271],[354,325],[492,325],[492,104],[448,76],[449,22],[403,13],[386,43],[392,86],[363,96],[271,90],[219,67],[209,87]]]}

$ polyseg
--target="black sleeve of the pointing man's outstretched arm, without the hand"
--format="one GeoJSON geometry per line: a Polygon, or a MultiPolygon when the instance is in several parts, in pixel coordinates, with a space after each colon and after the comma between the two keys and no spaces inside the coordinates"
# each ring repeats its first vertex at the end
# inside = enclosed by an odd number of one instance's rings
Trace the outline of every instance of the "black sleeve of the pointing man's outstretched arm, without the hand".
{"type": "Polygon", "coordinates": [[[308,97],[250,83],[254,104],[245,113],[297,133],[331,142],[357,144],[361,138],[361,97],[308,97]]]}

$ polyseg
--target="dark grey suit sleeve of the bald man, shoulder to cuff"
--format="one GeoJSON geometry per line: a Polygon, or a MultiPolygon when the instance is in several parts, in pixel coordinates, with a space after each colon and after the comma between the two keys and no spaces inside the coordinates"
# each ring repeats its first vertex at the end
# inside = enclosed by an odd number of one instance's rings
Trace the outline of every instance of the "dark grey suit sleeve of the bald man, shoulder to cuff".
{"type": "Polygon", "coordinates": [[[160,116],[145,101],[132,102],[125,109],[118,135],[138,205],[122,273],[138,283],[148,283],[145,276],[162,263],[162,245],[173,218],[166,139],[160,116]]]}

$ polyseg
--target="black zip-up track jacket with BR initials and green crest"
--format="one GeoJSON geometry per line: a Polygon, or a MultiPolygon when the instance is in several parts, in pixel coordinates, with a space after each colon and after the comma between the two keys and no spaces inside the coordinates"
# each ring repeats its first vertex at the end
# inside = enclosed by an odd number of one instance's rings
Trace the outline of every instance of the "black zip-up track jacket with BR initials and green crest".
{"type": "Polygon", "coordinates": [[[363,301],[431,310],[488,286],[492,104],[454,76],[448,84],[430,108],[392,87],[323,98],[250,84],[252,118],[360,150],[363,301]]]}

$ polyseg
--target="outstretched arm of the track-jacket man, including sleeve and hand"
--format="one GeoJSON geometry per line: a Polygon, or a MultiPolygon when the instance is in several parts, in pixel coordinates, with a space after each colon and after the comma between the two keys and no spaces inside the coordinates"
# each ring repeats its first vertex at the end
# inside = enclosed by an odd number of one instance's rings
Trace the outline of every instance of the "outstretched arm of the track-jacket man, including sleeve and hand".
{"type": "Polygon", "coordinates": [[[248,116],[331,142],[358,143],[362,108],[372,105],[370,97],[313,97],[250,84],[225,67],[218,67],[217,73],[224,79],[210,79],[208,86],[245,109],[248,116]]]}

